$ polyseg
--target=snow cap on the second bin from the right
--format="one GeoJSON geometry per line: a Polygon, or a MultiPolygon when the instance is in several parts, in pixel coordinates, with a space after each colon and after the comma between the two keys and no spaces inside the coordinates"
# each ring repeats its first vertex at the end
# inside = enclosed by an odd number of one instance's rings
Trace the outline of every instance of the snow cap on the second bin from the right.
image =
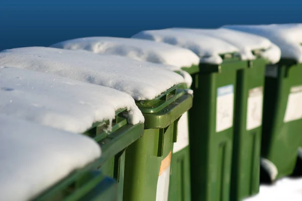
{"type": "Polygon", "coordinates": [[[253,60],[256,57],[253,55],[253,50],[267,50],[261,53],[263,58],[268,59],[271,63],[277,63],[280,60],[281,51],[267,38],[254,34],[243,33],[229,29],[188,29],[188,28],[173,28],[184,32],[192,32],[196,34],[205,34],[215,38],[224,40],[240,50],[242,60],[253,60]]]}

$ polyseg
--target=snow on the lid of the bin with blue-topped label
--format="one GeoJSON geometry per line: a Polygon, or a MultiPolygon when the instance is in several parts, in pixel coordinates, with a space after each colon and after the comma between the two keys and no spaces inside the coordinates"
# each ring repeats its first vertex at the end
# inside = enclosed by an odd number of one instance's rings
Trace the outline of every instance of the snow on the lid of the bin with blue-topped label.
{"type": "Polygon", "coordinates": [[[175,29],[141,31],[132,36],[132,38],[164,42],[187,48],[200,57],[200,62],[214,64],[222,63],[219,54],[239,51],[234,45],[223,40],[205,34],[201,35],[175,29]]]}

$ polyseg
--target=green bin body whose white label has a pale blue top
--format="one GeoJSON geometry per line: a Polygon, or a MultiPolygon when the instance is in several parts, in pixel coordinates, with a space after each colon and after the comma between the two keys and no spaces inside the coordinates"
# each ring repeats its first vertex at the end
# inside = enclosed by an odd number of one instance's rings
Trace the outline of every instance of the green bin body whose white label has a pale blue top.
{"type": "Polygon", "coordinates": [[[230,200],[237,71],[245,65],[225,60],[200,64],[199,72],[187,69],[194,90],[189,111],[192,200],[230,200]]]}

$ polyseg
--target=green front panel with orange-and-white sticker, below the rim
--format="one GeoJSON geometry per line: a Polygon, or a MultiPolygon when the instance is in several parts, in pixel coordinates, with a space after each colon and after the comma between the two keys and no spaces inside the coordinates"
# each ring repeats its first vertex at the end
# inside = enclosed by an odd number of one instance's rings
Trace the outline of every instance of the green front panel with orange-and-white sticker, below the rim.
{"type": "Polygon", "coordinates": [[[174,123],[164,129],[146,129],[126,150],[124,200],[168,200],[174,123]],[[158,155],[159,138],[163,155],[158,155]]]}

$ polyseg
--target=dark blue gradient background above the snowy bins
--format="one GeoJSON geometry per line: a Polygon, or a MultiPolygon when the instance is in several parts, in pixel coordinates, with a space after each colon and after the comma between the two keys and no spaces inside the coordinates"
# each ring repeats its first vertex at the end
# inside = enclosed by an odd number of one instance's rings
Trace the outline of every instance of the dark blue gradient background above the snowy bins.
{"type": "Polygon", "coordinates": [[[72,2],[73,6],[62,1],[24,2],[0,2],[0,50],[48,46],[87,36],[130,37],[141,30],[168,27],[302,23],[302,2],[289,5],[290,1],[285,2],[287,5],[274,2],[273,6],[259,0],[250,5],[246,1],[241,5],[239,1],[229,5],[222,5],[223,1],[209,2],[211,5],[193,5],[192,1],[127,1],[127,5],[124,1],[82,1],[86,5],[72,2]]]}

